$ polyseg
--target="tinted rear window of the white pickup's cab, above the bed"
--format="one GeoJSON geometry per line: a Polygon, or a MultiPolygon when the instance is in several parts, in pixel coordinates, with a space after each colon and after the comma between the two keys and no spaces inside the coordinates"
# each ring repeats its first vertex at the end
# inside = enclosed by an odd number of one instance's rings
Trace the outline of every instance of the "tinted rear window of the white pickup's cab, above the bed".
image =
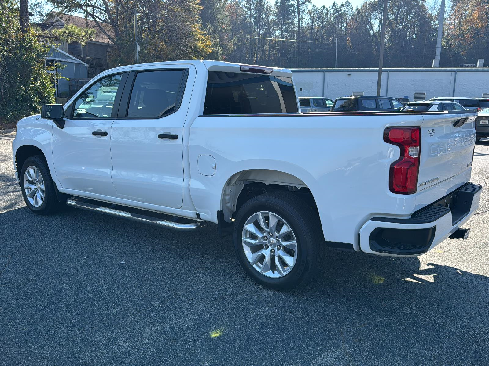
{"type": "Polygon", "coordinates": [[[291,112],[297,112],[291,78],[209,71],[205,115],[291,112]]]}

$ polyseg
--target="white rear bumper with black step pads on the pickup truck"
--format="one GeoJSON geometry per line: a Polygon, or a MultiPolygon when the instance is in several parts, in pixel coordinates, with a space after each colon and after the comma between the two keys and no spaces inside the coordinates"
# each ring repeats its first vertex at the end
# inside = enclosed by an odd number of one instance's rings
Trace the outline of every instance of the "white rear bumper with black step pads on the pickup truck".
{"type": "Polygon", "coordinates": [[[475,213],[482,186],[467,183],[410,218],[374,217],[360,229],[365,253],[414,257],[443,242],[475,213]]]}

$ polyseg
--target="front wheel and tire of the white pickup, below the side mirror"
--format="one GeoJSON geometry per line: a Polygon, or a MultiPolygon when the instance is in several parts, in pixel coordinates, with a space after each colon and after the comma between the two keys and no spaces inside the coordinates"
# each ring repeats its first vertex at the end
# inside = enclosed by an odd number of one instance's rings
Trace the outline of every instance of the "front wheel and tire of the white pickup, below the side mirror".
{"type": "Polygon", "coordinates": [[[43,156],[35,155],[27,158],[22,165],[19,178],[22,197],[32,212],[38,215],[49,215],[59,210],[56,186],[43,156]]]}

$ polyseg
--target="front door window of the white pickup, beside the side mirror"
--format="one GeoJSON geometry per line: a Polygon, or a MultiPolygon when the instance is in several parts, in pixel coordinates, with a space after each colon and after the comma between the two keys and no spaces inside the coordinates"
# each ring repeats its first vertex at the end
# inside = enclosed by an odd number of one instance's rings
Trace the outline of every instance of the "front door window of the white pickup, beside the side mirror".
{"type": "Polygon", "coordinates": [[[105,77],[86,89],[74,102],[73,118],[108,118],[122,74],[105,77]]]}

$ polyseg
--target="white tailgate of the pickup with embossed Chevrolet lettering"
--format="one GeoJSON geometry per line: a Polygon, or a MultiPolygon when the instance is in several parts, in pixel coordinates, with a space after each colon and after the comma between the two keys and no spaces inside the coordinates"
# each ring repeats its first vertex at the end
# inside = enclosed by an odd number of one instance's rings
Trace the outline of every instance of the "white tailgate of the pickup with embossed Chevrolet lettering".
{"type": "Polygon", "coordinates": [[[472,112],[423,115],[418,191],[470,169],[476,116],[472,112]]]}

